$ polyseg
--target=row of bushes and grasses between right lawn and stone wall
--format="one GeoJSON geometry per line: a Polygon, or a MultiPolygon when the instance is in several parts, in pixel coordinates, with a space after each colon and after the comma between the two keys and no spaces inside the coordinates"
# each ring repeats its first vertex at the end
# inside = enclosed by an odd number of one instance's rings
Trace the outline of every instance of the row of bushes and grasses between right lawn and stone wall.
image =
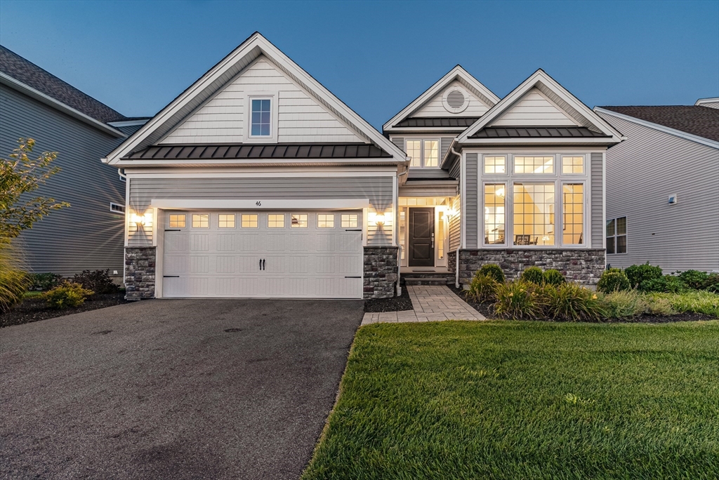
{"type": "MultiPolygon", "coordinates": [[[[719,295],[711,291],[646,292],[631,288],[631,282],[642,285],[666,277],[661,269],[656,277],[656,270],[639,267],[631,271],[632,280],[620,269],[608,269],[597,285],[599,291],[594,292],[567,282],[554,269],[543,272],[530,267],[518,280],[507,282],[498,265],[485,265],[476,272],[465,295],[489,305],[498,318],[596,322],[686,312],[719,318],[719,295]],[[648,275],[652,277],[646,278],[648,275]]],[[[681,281],[680,277],[670,277],[681,281]]]]}

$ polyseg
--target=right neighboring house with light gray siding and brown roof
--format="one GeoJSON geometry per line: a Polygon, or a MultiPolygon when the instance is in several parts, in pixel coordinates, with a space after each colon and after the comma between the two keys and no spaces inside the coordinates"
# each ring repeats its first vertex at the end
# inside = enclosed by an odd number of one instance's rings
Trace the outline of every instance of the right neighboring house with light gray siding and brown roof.
{"type": "Polygon", "coordinates": [[[719,271],[719,98],[595,111],[627,137],[607,154],[607,263],[719,271]]]}

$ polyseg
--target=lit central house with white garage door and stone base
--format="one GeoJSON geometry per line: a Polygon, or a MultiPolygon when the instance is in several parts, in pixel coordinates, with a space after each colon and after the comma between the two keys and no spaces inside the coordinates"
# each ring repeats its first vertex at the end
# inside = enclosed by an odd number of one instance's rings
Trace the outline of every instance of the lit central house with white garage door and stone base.
{"type": "Polygon", "coordinates": [[[104,159],[127,297],[388,297],[400,263],[596,282],[620,134],[549,75],[500,100],[455,68],[385,135],[252,34],[104,159]]]}

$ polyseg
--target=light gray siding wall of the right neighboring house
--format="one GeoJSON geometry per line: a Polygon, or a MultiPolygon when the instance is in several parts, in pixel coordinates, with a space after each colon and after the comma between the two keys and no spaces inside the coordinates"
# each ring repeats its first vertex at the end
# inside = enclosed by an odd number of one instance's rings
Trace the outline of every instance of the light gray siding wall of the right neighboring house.
{"type": "Polygon", "coordinates": [[[627,253],[607,262],[719,270],[719,149],[600,115],[627,137],[606,154],[607,218],[626,216],[627,253]]]}

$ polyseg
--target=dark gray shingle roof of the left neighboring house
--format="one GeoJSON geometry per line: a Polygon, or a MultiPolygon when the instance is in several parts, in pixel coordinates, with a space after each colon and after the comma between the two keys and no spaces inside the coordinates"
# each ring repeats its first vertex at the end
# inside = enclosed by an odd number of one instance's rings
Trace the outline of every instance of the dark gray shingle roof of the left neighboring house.
{"type": "Polygon", "coordinates": [[[0,72],[101,122],[121,121],[127,118],[2,45],[0,45],[0,72]]]}

